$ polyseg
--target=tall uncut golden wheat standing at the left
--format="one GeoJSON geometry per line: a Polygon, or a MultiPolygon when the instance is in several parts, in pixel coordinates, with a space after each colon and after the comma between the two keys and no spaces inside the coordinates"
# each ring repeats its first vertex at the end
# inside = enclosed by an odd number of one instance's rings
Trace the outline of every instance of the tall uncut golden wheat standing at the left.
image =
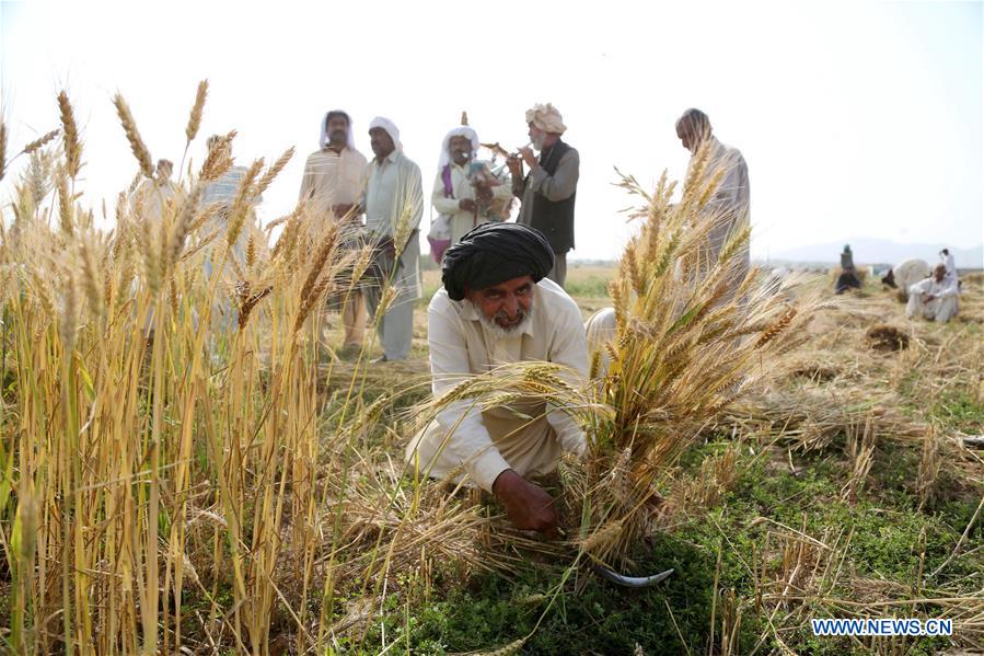
{"type": "MultiPolygon", "coordinates": [[[[297,652],[316,648],[337,594],[419,568],[475,516],[421,509],[373,473],[385,457],[362,447],[386,399],[363,405],[364,362],[317,393],[321,308],[359,284],[372,244],[339,249],[338,223],[301,205],[273,222],[282,233],[269,245],[251,207],[293,150],[254,161],[228,205],[205,204],[235,133],[173,184],[155,177],[125,100],[114,104],[139,169],[114,229],[80,204],[83,143],[65,93],[60,130],[22,150],[0,227],[0,643],[264,654],[286,633],[297,652]]],[[[0,177],[5,141],[0,123],[0,177]]]]}

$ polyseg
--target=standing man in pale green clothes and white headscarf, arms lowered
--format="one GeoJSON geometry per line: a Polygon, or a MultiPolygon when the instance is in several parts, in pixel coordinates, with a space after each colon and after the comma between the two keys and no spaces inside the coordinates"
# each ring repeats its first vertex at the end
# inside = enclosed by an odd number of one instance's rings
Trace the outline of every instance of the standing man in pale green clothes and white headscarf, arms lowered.
{"type": "Polygon", "coordinates": [[[384,287],[396,291],[379,322],[384,355],[377,361],[405,360],[414,337],[414,301],[421,294],[417,239],[424,216],[420,168],[403,154],[400,130],[389,118],[372,119],[369,139],[375,158],[369,163],[362,199],[366,227],[382,240],[386,257],[395,265],[389,280],[367,289],[370,312],[375,315],[384,287]]]}

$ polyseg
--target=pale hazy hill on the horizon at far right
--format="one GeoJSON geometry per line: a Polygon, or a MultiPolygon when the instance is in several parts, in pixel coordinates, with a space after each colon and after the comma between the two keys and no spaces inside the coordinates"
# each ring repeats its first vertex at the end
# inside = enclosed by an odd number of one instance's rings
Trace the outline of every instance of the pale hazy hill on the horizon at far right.
{"type": "Polygon", "coordinates": [[[858,264],[895,264],[910,257],[921,257],[928,263],[939,262],[939,252],[950,249],[958,268],[984,268],[984,244],[971,249],[958,249],[952,244],[896,244],[885,239],[859,237],[826,244],[797,246],[779,253],[771,253],[769,261],[840,263],[844,244],[850,244],[854,261],[858,264]]]}

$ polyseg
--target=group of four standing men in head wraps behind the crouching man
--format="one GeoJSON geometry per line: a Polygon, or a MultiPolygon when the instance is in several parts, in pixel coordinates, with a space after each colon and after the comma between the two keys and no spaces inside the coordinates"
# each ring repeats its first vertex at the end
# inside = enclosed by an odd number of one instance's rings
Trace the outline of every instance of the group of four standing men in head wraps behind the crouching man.
{"type": "MultiPolygon", "coordinates": [[[[506,219],[503,202],[516,195],[522,203],[519,222],[546,235],[557,257],[549,275],[563,285],[566,253],[574,248],[578,153],[562,140],[566,127],[553,105],[534,106],[526,112],[526,123],[540,157],[526,147],[510,158],[511,183],[491,175],[486,164],[476,161],[479,143],[474,129],[452,129],[442,145],[431,200],[450,219],[451,243],[455,243],[481,222],[506,219]],[[529,168],[525,176],[524,163],[529,168]]],[[[371,161],[355,148],[351,117],[340,110],[325,114],[321,148],[308,158],[300,199],[311,203],[310,210],[316,217],[347,221],[370,231],[396,258],[390,280],[396,296],[378,324],[384,354],[379,361],[403,360],[410,352],[414,301],[421,295],[420,168],[404,154],[400,130],[392,120],[373,118],[369,137],[374,156],[371,161]]],[[[362,348],[367,306],[369,315],[374,315],[381,291],[379,285],[369,285],[344,302],[343,356],[362,348]]]]}

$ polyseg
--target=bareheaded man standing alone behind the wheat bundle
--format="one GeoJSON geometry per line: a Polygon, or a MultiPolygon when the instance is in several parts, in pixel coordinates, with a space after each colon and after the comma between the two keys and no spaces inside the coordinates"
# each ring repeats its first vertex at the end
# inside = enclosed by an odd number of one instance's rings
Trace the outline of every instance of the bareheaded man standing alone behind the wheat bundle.
{"type": "MultiPolygon", "coordinates": [[[[710,231],[710,262],[717,262],[718,253],[728,235],[733,230],[744,229],[749,225],[749,208],[751,189],[749,186],[749,166],[745,164],[741,151],[730,146],[725,146],[714,136],[710,127],[710,119],[707,114],[701,110],[687,110],[676,119],[676,136],[680,137],[683,147],[691,151],[693,156],[697,154],[701,147],[709,141],[710,149],[707,159],[707,166],[704,169],[704,180],[707,183],[714,176],[715,172],[723,169],[723,177],[715,191],[714,197],[707,203],[709,211],[720,215],[720,221],[710,231]]],[[[691,163],[687,166],[687,175],[690,168],[694,164],[694,157],[691,157],[691,163]]],[[[742,249],[739,255],[743,258],[736,285],[741,283],[744,275],[748,274],[751,264],[751,256],[748,245],[742,249]]]]}

